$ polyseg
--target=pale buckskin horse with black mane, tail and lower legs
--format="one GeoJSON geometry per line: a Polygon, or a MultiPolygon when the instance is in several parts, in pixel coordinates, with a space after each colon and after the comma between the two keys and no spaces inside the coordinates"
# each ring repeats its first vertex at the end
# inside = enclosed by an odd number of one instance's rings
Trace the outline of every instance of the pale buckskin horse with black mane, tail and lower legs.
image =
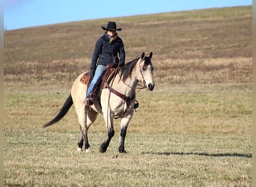
{"type": "Polygon", "coordinates": [[[100,153],[105,153],[115,134],[114,119],[121,118],[118,151],[119,153],[127,153],[124,148],[124,141],[129,121],[132,119],[135,110],[135,89],[139,85],[138,82],[142,82],[141,87],[147,88],[148,91],[153,91],[155,86],[153,64],[151,62],[152,55],[153,53],[150,52],[149,56],[145,56],[142,52],[139,58],[135,58],[123,67],[118,68],[111,82],[106,82],[107,88],[98,89],[96,96],[94,96],[93,105],[88,105],[85,101],[87,86],[80,82],[85,74],[81,73],[73,82],[71,94],[67,97],[61,111],[43,127],[51,126],[61,120],[67,114],[71,105],[74,104],[81,131],[81,138],[77,144],[78,151],[82,151],[83,144],[85,144],[85,152],[88,153],[91,150],[88,142],[88,129],[96,120],[97,114],[103,114],[108,134],[106,141],[100,145],[100,153]]]}

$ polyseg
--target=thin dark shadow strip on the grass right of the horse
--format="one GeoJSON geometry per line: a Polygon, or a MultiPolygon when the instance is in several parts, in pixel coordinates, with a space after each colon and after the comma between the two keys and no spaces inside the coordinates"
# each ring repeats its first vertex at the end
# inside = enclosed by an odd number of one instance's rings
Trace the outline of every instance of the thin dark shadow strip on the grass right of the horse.
{"type": "Polygon", "coordinates": [[[186,156],[186,155],[194,155],[194,156],[213,156],[213,157],[223,157],[223,156],[237,156],[237,157],[245,157],[245,158],[252,158],[252,153],[183,153],[183,152],[142,152],[143,155],[180,155],[180,156],[186,156]]]}

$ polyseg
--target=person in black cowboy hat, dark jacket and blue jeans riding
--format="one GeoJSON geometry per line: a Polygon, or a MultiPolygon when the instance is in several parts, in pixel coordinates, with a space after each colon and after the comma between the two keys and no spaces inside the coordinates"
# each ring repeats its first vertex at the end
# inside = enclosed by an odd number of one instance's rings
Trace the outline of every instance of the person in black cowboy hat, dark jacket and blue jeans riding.
{"type": "Polygon", "coordinates": [[[100,81],[103,73],[106,71],[106,66],[112,62],[119,63],[120,66],[124,66],[125,50],[124,43],[121,37],[118,37],[117,31],[121,31],[122,28],[117,28],[115,22],[108,22],[107,27],[101,27],[105,32],[102,37],[97,40],[94,48],[94,54],[91,60],[91,85],[88,88],[85,101],[92,105],[94,98],[92,91],[94,91],[95,85],[100,81]],[[119,55],[119,58],[118,58],[119,55]]]}

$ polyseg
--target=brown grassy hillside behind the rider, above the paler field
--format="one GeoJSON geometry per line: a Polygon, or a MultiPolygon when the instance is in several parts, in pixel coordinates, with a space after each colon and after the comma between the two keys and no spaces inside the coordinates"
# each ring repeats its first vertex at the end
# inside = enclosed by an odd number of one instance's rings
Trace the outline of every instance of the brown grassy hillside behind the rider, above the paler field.
{"type": "Polygon", "coordinates": [[[252,6],[68,22],[4,32],[4,85],[67,85],[88,70],[101,25],[118,22],[127,61],[153,52],[157,82],[252,82],[252,6]]]}

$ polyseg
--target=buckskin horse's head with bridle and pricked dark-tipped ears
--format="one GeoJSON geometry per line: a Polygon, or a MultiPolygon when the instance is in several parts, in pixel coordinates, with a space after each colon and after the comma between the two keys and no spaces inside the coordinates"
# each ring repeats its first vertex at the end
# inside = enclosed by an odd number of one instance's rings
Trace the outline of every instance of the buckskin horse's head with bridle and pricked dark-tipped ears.
{"type": "Polygon", "coordinates": [[[138,60],[137,79],[141,81],[145,88],[149,91],[153,91],[155,83],[153,81],[153,65],[151,62],[153,53],[150,52],[149,56],[145,56],[144,52],[141,54],[141,58],[138,60]]]}

